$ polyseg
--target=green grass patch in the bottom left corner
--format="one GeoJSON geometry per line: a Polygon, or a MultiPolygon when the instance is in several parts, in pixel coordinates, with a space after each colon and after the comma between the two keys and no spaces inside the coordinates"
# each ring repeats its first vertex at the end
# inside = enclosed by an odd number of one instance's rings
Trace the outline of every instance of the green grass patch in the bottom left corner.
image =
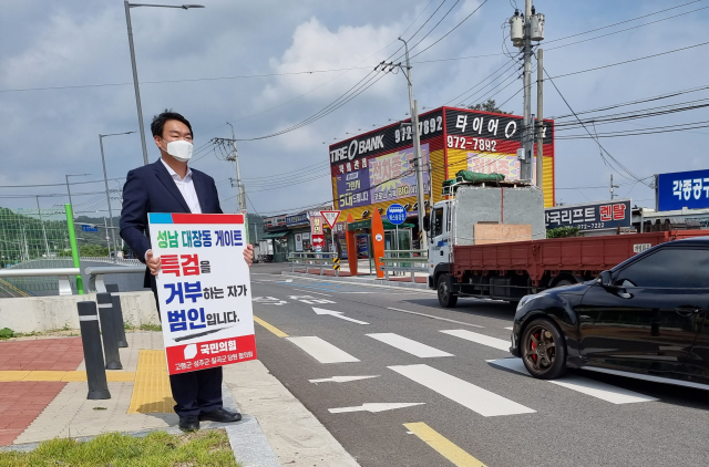
{"type": "Polygon", "coordinates": [[[52,439],[31,453],[0,452],[4,466],[235,466],[229,439],[224,429],[186,435],[154,432],[137,438],[119,433],[101,435],[90,442],[52,439]]]}

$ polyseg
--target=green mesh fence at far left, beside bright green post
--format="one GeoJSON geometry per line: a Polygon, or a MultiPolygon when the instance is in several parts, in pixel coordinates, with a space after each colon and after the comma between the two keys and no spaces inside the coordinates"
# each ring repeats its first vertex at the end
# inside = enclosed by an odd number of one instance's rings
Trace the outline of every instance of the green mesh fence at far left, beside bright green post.
{"type": "MultiPolygon", "coordinates": [[[[71,268],[71,243],[64,209],[0,208],[0,268],[71,268]]],[[[75,290],[75,283],[72,283],[75,290]]],[[[55,277],[0,279],[6,297],[54,292],[55,277]]]]}

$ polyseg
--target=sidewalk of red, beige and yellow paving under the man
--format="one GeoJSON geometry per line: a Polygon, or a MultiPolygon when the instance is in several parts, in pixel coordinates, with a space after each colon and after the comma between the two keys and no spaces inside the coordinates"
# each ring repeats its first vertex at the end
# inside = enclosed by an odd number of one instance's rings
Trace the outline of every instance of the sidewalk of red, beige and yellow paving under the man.
{"type": "MultiPolygon", "coordinates": [[[[178,433],[163,336],[126,333],[122,371],[106,371],[111,398],[86,399],[81,338],[0,342],[0,448],[31,448],[55,437],[178,433]],[[28,445],[30,444],[30,445],[28,445]]],[[[259,361],[224,367],[224,402],[239,411],[226,427],[245,466],[357,466],[354,459],[259,361]]]]}

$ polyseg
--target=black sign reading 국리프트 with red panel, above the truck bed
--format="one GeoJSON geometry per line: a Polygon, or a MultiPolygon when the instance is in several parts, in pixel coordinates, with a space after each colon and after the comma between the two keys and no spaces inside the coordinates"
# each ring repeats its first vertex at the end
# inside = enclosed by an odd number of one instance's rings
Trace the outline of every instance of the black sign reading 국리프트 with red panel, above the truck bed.
{"type": "Polygon", "coordinates": [[[587,203],[544,209],[546,228],[577,227],[579,230],[607,230],[630,227],[630,200],[587,203]]]}

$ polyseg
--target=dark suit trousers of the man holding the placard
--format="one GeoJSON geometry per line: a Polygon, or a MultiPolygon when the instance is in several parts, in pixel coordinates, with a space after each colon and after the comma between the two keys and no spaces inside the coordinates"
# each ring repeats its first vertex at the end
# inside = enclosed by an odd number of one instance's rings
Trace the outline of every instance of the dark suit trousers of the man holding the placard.
{"type": "MultiPolygon", "coordinates": [[[[153,284],[155,280],[153,279],[153,284]]],[[[157,290],[153,288],[157,319],[160,319],[160,301],[157,290]]],[[[169,387],[175,399],[175,413],[181,417],[206,414],[223,406],[222,366],[194,372],[169,375],[169,387]]]]}

